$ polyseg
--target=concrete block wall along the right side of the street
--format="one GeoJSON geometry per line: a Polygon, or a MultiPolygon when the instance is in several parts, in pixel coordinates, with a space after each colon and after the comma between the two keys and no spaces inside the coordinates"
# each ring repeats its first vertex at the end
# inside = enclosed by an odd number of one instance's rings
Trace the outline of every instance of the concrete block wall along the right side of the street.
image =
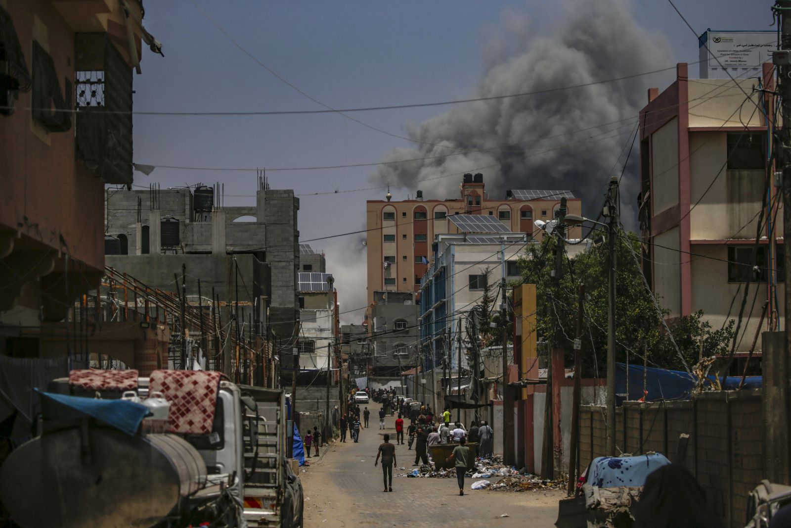
{"type": "MultiPolygon", "coordinates": [[[[615,412],[624,453],[657,451],[684,465],[706,490],[712,513],[744,526],[747,493],[766,478],[760,389],[702,393],[692,401],[626,402],[615,412]],[[689,435],[684,449],[680,435],[689,435]]],[[[607,454],[606,409],[580,412],[580,467],[607,454]]]]}

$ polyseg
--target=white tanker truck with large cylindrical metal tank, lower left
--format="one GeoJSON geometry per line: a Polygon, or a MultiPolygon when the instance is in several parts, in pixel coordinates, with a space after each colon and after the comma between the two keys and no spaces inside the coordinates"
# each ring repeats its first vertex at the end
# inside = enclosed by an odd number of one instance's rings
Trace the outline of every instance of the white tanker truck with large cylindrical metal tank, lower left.
{"type": "MultiPolygon", "coordinates": [[[[138,378],[139,397],[148,387],[138,378]]],[[[74,389],[67,378],[49,392],[120,396],[74,389]]],[[[79,412],[40,419],[36,436],[2,465],[0,498],[23,528],[293,528],[303,523],[303,492],[285,451],[283,392],[221,381],[206,435],[129,435],[79,412]]]]}

